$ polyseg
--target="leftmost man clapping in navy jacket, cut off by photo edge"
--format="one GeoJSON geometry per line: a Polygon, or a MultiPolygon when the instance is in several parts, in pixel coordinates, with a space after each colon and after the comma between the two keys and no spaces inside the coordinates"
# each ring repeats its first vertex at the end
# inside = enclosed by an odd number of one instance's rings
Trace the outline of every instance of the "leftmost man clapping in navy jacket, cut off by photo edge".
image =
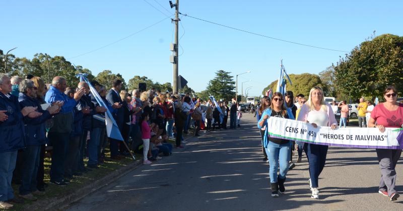
{"type": "Polygon", "coordinates": [[[12,208],[9,202],[16,201],[11,186],[13,171],[16,166],[17,151],[24,145],[23,118],[39,117],[35,107],[21,109],[18,97],[11,95],[12,85],[10,77],[0,74],[0,209],[12,208]]]}

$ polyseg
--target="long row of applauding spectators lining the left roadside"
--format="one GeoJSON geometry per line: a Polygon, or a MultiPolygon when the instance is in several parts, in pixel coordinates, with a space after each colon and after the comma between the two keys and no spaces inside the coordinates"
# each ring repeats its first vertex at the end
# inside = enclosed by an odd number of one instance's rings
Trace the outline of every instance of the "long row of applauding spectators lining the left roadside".
{"type": "Polygon", "coordinates": [[[45,152],[51,154],[50,183],[68,186],[73,177],[99,168],[106,159],[121,160],[130,151],[143,153],[144,164],[170,156],[169,139],[175,139],[176,148],[183,148],[183,134],[193,127],[192,135],[198,136],[205,122],[208,131],[227,129],[229,117],[231,129],[240,127],[235,99],[230,106],[220,101],[217,107],[210,99],[202,101],[188,93],[154,88],[126,91],[121,90],[120,80],[111,85],[107,90],[91,81],[101,103],[86,82],[67,87],[61,76],[45,84],[33,75],[0,74],[0,208],[34,201],[45,193],[45,152]],[[123,141],[108,138],[106,111],[112,114],[123,141]],[[20,185],[20,197],[14,194],[12,182],[20,185]]]}

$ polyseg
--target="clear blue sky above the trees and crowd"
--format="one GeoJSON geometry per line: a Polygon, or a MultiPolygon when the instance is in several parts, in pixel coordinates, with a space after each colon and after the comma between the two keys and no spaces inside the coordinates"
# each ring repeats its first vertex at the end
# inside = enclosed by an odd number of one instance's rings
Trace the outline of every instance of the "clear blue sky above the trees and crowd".
{"type": "MultiPolygon", "coordinates": [[[[374,30],[376,35],[403,36],[401,8],[402,1],[181,0],[179,11],[270,37],[350,52],[374,30]]],[[[0,49],[18,46],[13,51],[18,57],[32,58],[41,52],[64,56],[94,75],[110,69],[121,73],[126,81],[145,75],[161,83],[172,82],[170,19],[76,57],[172,15],[168,1],[5,1],[1,11],[0,49]]],[[[179,74],[196,91],[204,90],[219,69],[234,76],[250,70],[238,77],[238,92],[241,82],[252,79],[244,83],[244,89],[253,86],[249,95],[260,95],[277,79],[281,59],[289,74],[317,74],[345,54],[250,35],[189,17],[182,17],[181,24],[179,74]]]]}

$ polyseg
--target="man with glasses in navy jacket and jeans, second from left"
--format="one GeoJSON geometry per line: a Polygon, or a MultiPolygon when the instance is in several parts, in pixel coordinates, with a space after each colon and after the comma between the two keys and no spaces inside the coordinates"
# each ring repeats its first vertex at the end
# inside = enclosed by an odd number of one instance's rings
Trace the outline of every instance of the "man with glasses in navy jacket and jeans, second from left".
{"type": "Polygon", "coordinates": [[[58,105],[48,107],[46,111],[42,110],[37,99],[37,87],[32,80],[23,80],[20,83],[20,101],[21,108],[37,107],[41,116],[37,118],[24,118],[25,124],[25,144],[27,148],[22,151],[22,184],[20,186],[20,196],[28,200],[36,200],[37,198],[31,193],[43,195],[37,189],[36,175],[39,166],[39,152],[41,145],[45,144],[45,121],[50,119],[53,114],[59,112],[58,105]]]}

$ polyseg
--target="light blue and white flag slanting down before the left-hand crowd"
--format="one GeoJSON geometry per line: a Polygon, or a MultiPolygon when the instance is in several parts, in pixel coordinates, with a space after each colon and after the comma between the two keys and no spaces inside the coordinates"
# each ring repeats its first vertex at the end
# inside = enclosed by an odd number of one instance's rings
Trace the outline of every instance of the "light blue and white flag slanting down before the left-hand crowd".
{"type": "Polygon", "coordinates": [[[90,90],[91,93],[94,95],[94,98],[102,107],[106,108],[105,125],[106,125],[106,134],[108,135],[108,137],[123,141],[123,137],[120,134],[119,128],[117,127],[117,124],[113,119],[112,114],[109,112],[108,107],[102,100],[101,96],[98,94],[97,90],[94,88],[94,86],[91,85],[91,83],[88,81],[87,77],[83,73],[79,73],[77,77],[80,77],[80,81],[85,81],[88,84],[88,86],[90,86],[90,90]]]}

